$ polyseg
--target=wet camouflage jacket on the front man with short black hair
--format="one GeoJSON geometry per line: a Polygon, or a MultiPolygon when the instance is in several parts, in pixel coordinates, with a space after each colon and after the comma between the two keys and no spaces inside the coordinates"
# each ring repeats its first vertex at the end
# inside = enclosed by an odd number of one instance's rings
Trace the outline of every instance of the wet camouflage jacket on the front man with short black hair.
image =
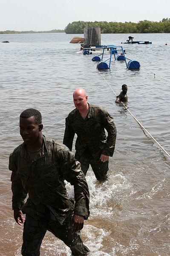
{"type": "Polygon", "coordinates": [[[35,215],[33,208],[41,212],[45,206],[61,224],[66,213],[73,209],[75,214],[82,215],[85,219],[89,217],[86,178],[80,163],[65,145],[43,137],[43,147],[32,161],[23,143],[9,156],[9,170],[12,171],[13,209],[22,209],[35,215]],[[64,180],[74,185],[75,206],[67,194],[64,180]],[[27,194],[29,200],[24,205],[27,194]],[[34,207],[30,207],[31,205],[34,207]]]}

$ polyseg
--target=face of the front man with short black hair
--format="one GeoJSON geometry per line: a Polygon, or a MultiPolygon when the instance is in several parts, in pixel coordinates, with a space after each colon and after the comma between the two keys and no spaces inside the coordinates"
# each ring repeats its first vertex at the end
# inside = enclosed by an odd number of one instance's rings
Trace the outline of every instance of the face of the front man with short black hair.
{"type": "Polygon", "coordinates": [[[39,132],[39,124],[37,124],[34,116],[31,118],[20,118],[20,135],[25,144],[36,143],[39,132]]]}

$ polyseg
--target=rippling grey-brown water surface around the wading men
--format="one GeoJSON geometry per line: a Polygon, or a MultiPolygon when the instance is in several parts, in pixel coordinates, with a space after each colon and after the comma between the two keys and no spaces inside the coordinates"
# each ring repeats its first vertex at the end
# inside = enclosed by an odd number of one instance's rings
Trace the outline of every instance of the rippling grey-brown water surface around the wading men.
{"type": "MultiPolygon", "coordinates": [[[[170,159],[129,112],[115,104],[115,94],[127,84],[127,107],[170,153],[170,34],[133,35],[135,41],[153,42],[147,45],[121,44],[129,34],[102,34],[102,44],[122,45],[141,69],[127,70],[124,62],[112,59],[110,70],[100,72],[91,61],[95,53],[83,56],[79,44],[69,44],[73,36],[0,35],[0,41],[10,41],[0,43],[0,255],[19,256],[22,244],[22,228],[13,219],[8,170],[9,153],[22,143],[19,115],[30,107],[40,110],[43,134],[62,141],[65,118],[74,109],[72,93],[83,87],[89,103],[103,106],[114,117],[118,131],[109,179],[98,182],[91,169],[86,176],[91,214],[81,233],[90,255],[168,256],[170,159]]],[[[69,256],[70,250],[47,232],[41,256],[54,255],[69,256]]]]}

